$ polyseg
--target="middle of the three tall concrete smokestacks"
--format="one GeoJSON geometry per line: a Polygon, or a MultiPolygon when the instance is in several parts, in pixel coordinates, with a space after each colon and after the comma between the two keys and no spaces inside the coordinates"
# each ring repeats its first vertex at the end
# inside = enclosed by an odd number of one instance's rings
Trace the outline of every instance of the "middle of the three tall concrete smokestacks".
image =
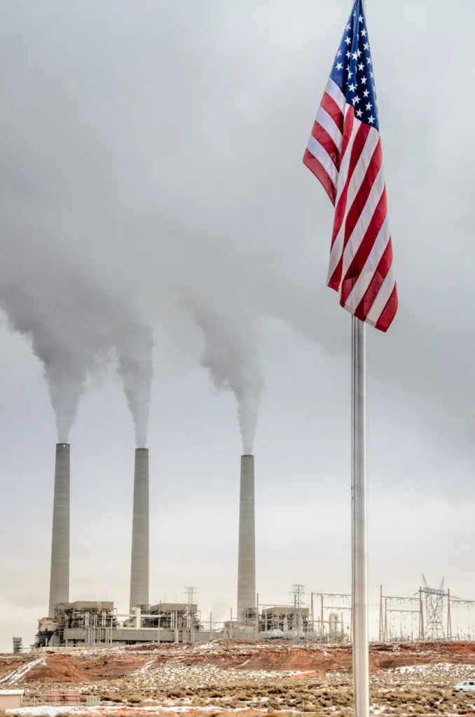
{"type": "Polygon", "coordinates": [[[148,605],[148,448],[135,450],[130,610],[148,605]]]}

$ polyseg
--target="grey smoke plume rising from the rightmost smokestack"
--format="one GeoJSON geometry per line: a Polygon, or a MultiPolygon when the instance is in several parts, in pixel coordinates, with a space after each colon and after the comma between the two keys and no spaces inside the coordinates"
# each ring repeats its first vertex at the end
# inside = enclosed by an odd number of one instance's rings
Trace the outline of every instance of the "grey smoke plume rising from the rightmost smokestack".
{"type": "Polygon", "coordinates": [[[206,342],[201,366],[209,369],[217,389],[231,389],[236,396],[243,453],[251,455],[264,388],[251,312],[246,315],[242,306],[227,306],[219,313],[214,306],[198,303],[194,315],[206,342]]]}

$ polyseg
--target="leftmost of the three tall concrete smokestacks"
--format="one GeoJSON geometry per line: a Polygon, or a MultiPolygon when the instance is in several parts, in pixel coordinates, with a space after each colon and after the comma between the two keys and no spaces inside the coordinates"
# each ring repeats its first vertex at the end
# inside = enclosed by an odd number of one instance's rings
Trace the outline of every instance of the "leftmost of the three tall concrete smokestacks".
{"type": "Polygon", "coordinates": [[[54,469],[53,533],[51,576],[49,582],[49,617],[54,606],[69,602],[69,444],[58,443],[54,469]]]}

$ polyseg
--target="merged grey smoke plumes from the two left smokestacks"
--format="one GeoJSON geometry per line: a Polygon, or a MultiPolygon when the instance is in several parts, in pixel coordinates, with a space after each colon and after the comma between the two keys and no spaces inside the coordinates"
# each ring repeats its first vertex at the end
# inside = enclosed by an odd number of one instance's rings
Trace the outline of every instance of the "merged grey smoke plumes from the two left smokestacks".
{"type": "Polygon", "coordinates": [[[42,361],[60,443],[69,442],[87,377],[116,354],[137,444],[145,445],[153,341],[130,300],[57,255],[12,254],[8,271],[0,268],[0,306],[42,361]]]}

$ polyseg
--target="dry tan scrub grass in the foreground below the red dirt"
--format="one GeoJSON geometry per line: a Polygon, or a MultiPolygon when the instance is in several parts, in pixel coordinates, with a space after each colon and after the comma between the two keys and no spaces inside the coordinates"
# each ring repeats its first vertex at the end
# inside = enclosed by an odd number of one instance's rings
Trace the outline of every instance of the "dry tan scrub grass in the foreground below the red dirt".
{"type": "MultiPolygon", "coordinates": [[[[427,673],[380,672],[372,675],[370,703],[384,717],[434,717],[475,715],[475,695],[452,693],[453,676],[428,670],[427,673]]],[[[475,670],[475,668],[474,668],[475,670]]],[[[249,674],[249,673],[248,673],[249,674]]],[[[160,714],[160,706],[176,705],[198,709],[193,717],[230,717],[226,710],[241,708],[268,710],[265,717],[352,717],[352,675],[339,671],[320,677],[268,680],[247,675],[224,682],[178,683],[165,686],[150,682],[143,687],[129,687],[122,680],[109,680],[106,685],[88,685],[85,693],[100,694],[103,703],[124,707],[153,707],[148,717],[160,714]],[[145,702],[146,701],[146,702],[145,702]],[[211,708],[200,712],[200,708],[211,708]],[[216,708],[216,711],[213,709],[216,708]]],[[[163,714],[163,711],[162,713],[163,714]]],[[[166,713],[171,717],[170,713],[166,713]]],[[[236,717],[239,717],[239,713],[236,717]]],[[[264,716],[262,716],[264,717],[264,716]]],[[[381,716],[383,717],[383,716],[381,716]]]]}

